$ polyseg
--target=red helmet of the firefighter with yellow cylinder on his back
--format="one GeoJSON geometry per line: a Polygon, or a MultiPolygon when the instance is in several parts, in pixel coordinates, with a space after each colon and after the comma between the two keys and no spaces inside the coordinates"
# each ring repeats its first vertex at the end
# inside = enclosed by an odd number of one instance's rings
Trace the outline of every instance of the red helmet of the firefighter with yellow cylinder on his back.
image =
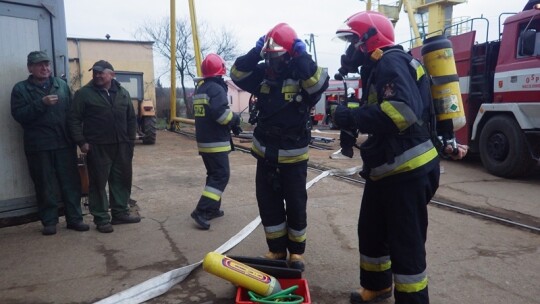
{"type": "Polygon", "coordinates": [[[392,22],[379,12],[365,11],[352,15],[336,36],[347,42],[357,44],[357,48],[371,53],[376,49],[394,45],[392,22]]]}

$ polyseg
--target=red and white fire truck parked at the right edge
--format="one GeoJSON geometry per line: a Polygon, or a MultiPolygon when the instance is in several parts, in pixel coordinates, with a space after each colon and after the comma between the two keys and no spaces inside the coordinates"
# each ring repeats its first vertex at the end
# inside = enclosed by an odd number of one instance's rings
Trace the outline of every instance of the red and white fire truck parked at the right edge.
{"type": "MultiPolygon", "coordinates": [[[[501,15],[502,17],[503,15],[501,15]]],[[[499,17],[499,20],[501,20],[499,17]]],[[[470,31],[444,35],[452,42],[466,125],[456,132],[459,143],[480,156],[488,172],[505,178],[527,176],[540,156],[540,5],[512,14],[499,39],[477,41],[470,31]]],[[[411,50],[422,58],[421,47],[411,50]]]]}

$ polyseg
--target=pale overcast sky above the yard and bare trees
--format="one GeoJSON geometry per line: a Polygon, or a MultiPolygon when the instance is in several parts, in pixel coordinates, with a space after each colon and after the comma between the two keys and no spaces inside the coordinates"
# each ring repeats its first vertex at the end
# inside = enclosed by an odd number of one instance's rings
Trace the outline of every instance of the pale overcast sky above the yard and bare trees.
{"type": "MultiPolygon", "coordinates": [[[[497,36],[499,14],[521,11],[526,2],[469,0],[454,6],[453,15],[454,18],[481,15],[488,18],[492,40],[497,36]]],[[[313,34],[317,61],[329,69],[330,75],[337,71],[345,48],[342,42],[332,40],[336,29],[347,17],[366,8],[366,3],[359,0],[195,0],[194,3],[197,21],[211,29],[224,27],[234,33],[241,52],[247,52],[260,36],[280,22],[289,23],[300,38],[309,39],[313,34]]],[[[145,21],[156,22],[170,15],[170,0],[65,0],[64,4],[67,34],[77,38],[104,38],[109,34],[111,39],[133,40],[136,29],[145,21]]],[[[188,0],[176,0],[176,17],[189,20],[188,0]]],[[[396,42],[409,39],[407,15],[402,12],[396,25],[396,42]]],[[[168,67],[162,59],[154,60],[157,77],[168,67]]],[[[167,77],[161,80],[169,82],[167,77]]]]}

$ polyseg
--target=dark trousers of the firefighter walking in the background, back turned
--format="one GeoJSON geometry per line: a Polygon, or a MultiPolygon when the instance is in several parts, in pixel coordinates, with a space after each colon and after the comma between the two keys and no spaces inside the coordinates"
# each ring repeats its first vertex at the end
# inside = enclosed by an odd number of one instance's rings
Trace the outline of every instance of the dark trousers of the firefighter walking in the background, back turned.
{"type": "Polygon", "coordinates": [[[221,195],[231,176],[229,152],[201,153],[201,157],[206,168],[206,184],[196,209],[201,213],[215,213],[221,207],[221,195]]]}

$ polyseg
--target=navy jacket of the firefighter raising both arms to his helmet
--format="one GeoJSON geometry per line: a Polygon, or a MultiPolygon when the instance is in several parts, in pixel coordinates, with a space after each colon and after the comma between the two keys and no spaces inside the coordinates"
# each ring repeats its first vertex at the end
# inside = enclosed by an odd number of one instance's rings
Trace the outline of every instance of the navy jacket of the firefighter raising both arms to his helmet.
{"type": "Polygon", "coordinates": [[[328,87],[328,74],[306,54],[291,59],[291,69],[272,80],[260,60],[252,49],[231,68],[234,83],[257,97],[252,154],[275,164],[307,161],[310,109],[328,87]]]}

